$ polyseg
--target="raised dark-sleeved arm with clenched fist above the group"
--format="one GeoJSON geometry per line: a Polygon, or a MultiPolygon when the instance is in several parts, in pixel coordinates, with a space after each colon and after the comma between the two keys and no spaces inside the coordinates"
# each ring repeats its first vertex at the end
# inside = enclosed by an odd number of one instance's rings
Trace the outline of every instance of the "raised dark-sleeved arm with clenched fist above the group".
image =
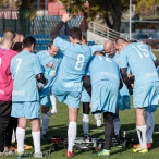
{"type": "Polygon", "coordinates": [[[50,37],[52,39],[54,39],[56,37],[58,37],[58,35],[60,34],[60,29],[62,28],[62,26],[71,19],[71,15],[65,13],[62,16],[62,21],[60,21],[60,23],[52,29],[52,32],[50,33],[50,37]]]}

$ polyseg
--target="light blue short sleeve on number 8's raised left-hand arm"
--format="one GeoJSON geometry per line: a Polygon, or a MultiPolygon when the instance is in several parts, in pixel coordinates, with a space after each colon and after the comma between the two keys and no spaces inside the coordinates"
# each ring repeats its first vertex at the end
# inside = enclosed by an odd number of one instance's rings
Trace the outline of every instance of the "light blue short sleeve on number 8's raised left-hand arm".
{"type": "Polygon", "coordinates": [[[63,40],[60,37],[57,37],[53,41],[53,46],[56,46],[57,48],[59,48],[63,53],[64,50],[68,49],[70,47],[71,42],[63,40]]]}

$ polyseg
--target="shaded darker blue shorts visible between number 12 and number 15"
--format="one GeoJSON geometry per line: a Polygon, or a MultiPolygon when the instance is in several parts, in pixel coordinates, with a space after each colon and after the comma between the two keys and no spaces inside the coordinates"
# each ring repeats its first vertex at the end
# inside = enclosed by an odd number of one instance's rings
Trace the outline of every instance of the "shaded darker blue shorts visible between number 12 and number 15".
{"type": "Polygon", "coordinates": [[[120,110],[131,109],[130,96],[119,96],[117,101],[117,107],[120,110]]]}

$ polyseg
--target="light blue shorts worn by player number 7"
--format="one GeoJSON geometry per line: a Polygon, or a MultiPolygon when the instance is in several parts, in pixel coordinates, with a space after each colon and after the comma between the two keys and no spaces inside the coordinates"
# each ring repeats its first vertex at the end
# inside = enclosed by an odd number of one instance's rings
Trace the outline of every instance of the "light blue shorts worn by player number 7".
{"type": "Polygon", "coordinates": [[[35,119],[40,118],[39,101],[13,101],[11,117],[35,119]]]}

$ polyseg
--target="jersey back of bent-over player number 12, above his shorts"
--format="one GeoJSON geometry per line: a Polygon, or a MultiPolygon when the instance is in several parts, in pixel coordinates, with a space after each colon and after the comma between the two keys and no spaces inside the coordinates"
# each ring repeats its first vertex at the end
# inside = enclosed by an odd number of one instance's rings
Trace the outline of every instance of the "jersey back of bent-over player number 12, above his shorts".
{"type": "Polygon", "coordinates": [[[120,83],[119,66],[110,58],[93,56],[89,61],[88,71],[91,84],[102,80],[111,81],[117,85],[120,83]]]}

